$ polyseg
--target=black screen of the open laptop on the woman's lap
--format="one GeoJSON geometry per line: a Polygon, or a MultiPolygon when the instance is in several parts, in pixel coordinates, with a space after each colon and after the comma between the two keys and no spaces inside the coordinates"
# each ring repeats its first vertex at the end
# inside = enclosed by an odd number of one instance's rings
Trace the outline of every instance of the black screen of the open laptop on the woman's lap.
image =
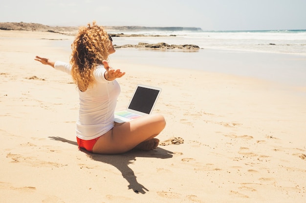
{"type": "Polygon", "coordinates": [[[153,108],[158,93],[159,90],[137,87],[129,109],[149,114],[153,108]]]}

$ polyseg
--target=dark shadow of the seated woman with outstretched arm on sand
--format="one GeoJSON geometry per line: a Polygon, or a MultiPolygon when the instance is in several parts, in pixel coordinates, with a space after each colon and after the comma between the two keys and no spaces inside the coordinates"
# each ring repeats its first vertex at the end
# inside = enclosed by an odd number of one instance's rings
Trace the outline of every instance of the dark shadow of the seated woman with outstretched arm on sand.
{"type": "MultiPolygon", "coordinates": [[[[66,142],[72,145],[78,146],[77,142],[66,140],[62,137],[49,137],[50,139],[66,142]]],[[[131,161],[136,161],[137,157],[148,157],[148,158],[159,158],[159,159],[169,159],[173,157],[173,152],[165,150],[163,148],[156,148],[152,151],[140,151],[140,150],[131,150],[123,154],[117,155],[102,155],[102,154],[93,154],[88,152],[85,149],[80,149],[81,151],[87,153],[87,156],[91,159],[106,164],[115,166],[121,173],[123,178],[125,178],[130,185],[129,189],[132,189],[136,193],[145,194],[146,191],[149,191],[144,185],[141,185],[137,182],[134,171],[128,166],[131,164],[131,161]]]]}

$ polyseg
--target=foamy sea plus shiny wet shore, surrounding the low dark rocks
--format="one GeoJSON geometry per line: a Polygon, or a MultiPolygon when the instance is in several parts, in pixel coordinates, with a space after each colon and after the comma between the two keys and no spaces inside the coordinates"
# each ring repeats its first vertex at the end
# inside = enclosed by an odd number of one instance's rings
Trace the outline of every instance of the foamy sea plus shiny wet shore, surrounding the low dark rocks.
{"type": "MultiPolygon", "coordinates": [[[[294,86],[306,86],[306,30],[201,31],[137,30],[109,31],[111,34],[147,37],[112,37],[113,44],[194,44],[200,50],[152,51],[119,48],[111,59],[170,68],[256,77],[294,86]],[[159,35],[159,37],[150,37],[159,35]]],[[[64,41],[54,43],[65,44],[64,41]]],[[[66,44],[70,49],[71,41],[66,44]]],[[[124,67],[121,68],[124,70],[124,67]]]]}

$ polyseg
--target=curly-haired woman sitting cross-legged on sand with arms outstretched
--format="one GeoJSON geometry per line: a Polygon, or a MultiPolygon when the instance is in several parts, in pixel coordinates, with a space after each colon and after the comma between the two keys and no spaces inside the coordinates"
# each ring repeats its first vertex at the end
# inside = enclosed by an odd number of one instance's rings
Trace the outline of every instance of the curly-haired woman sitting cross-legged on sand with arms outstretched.
{"type": "Polygon", "coordinates": [[[71,65],[36,56],[35,60],[71,74],[80,97],[76,136],[79,148],[99,153],[124,153],[133,148],[153,150],[154,138],[166,125],[159,114],[150,114],[123,124],[114,123],[120,86],[116,78],[125,73],[109,67],[108,56],[115,53],[111,37],[104,28],[88,24],[81,27],[71,45],[71,65]]]}

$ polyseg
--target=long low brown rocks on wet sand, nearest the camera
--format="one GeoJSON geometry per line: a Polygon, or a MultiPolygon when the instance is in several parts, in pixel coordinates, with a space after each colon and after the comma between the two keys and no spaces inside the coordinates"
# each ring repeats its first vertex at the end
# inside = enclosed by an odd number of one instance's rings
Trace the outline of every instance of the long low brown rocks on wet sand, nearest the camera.
{"type": "Polygon", "coordinates": [[[169,45],[164,42],[160,42],[157,44],[148,44],[139,42],[137,45],[132,44],[126,44],[122,46],[114,45],[114,48],[141,48],[141,49],[162,49],[162,50],[168,50],[168,49],[175,49],[175,50],[199,50],[199,46],[193,45],[193,44],[184,44],[184,45],[169,45]]]}

